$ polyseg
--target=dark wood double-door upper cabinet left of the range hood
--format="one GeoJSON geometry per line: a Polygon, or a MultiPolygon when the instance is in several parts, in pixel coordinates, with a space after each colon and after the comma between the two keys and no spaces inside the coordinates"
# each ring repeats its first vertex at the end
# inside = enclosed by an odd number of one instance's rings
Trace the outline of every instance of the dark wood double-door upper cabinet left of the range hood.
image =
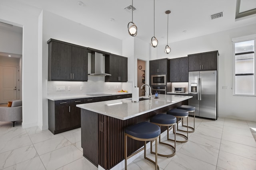
{"type": "Polygon", "coordinates": [[[49,81],[87,81],[86,47],[50,39],[48,42],[49,81]]]}

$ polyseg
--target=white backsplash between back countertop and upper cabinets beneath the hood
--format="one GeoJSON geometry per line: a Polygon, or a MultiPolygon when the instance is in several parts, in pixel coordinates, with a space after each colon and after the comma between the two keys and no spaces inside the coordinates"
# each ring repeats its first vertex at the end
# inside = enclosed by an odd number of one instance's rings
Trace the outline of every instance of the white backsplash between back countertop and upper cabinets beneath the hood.
{"type": "Polygon", "coordinates": [[[132,82],[105,82],[104,76],[90,75],[88,75],[87,82],[47,81],[47,96],[77,96],[96,93],[116,93],[122,89],[132,92],[132,82]],[[62,90],[56,90],[57,87],[62,87],[62,90]]]}

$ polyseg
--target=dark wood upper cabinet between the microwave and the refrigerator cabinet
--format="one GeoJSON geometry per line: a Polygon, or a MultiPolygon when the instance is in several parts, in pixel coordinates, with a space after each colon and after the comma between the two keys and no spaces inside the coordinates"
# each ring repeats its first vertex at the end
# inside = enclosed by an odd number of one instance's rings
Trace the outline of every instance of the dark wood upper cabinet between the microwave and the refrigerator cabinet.
{"type": "Polygon", "coordinates": [[[170,82],[188,82],[188,57],[170,59],[170,82]]]}

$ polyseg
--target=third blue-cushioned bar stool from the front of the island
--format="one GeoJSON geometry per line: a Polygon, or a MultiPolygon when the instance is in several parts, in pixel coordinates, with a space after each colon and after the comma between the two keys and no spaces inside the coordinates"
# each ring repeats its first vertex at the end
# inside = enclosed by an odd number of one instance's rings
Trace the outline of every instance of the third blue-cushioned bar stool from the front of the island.
{"type": "MultiPolygon", "coordinates": [[[[182,120],[183,120],[183,118],[187,118],[187,121],[188,121],[188,111],[186,111],[186,110],[183,110],[183,109],[171,109],[171,110],[169,110],[169,111],[167,111],[167,113],[166,114],[168,114],[168,115],[174,115],[176,118],[177,118],[177,129],[178,129],[178,118],[182,118],[182,120]]],[[[180,136],[182,136],[182,137],[184,137],[185,138],[185,140],[184,141],[177,141],[176,140],[176,142],[179,142],[179,143],[185,143],[185,142],[187,142],[188,141],[188,126],[187,126],[187,135],[183,135],[183,134],[181,134],[181,133],[176,133],[176,135],[180,135],[180,136]]],[[[174,140],[172,140],[171,139],[171,141],[174,141],[174,140]]]]}

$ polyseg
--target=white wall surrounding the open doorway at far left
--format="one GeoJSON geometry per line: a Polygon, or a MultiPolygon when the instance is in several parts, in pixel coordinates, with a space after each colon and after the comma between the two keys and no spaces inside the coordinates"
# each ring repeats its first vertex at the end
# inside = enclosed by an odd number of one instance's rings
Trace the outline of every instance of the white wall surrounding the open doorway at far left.
{"type": "Polygon", "coordinates": [[[38,16],[28,8],[21,8],[17,3],[4,1],[0,4],[0,20],[23,27],[22,127],[36,126],[38,124],[38,16]]]}

